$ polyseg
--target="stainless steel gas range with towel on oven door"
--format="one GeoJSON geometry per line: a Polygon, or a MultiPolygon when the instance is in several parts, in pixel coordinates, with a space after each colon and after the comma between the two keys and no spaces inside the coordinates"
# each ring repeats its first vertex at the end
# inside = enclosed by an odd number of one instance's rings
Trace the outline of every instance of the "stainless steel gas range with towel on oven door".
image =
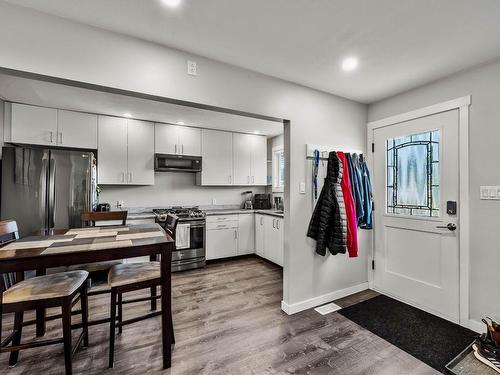
{"type": "Polygon", "coordinates": [[[172,252],[172,272],[204,267],[205,213],[197,207],[155,209],[156,222],[165,224],[167,213],[179,217],[176,229],[175,251],[172,252]]]}

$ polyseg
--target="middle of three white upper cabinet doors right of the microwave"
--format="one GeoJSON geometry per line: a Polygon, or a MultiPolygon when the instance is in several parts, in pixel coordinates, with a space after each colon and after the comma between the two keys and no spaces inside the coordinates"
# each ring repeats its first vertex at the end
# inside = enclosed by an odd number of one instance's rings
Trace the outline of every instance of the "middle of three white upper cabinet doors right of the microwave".
{"type": "Polygon", "coordinates": [[[233,176],[235,185],[252,184],[252,135],[233,133],[233,176]]]}

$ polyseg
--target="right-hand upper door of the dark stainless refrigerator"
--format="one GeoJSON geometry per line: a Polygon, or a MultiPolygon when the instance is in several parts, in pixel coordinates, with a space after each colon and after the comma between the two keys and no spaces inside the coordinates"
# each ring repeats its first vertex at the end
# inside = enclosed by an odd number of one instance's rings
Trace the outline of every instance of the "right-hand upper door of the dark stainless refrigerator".
{"type": "Polygon", "coordinates": [[[80,215],[91,209],[92,154],[50,151],[49,227],[81,227],[80,215]]]}

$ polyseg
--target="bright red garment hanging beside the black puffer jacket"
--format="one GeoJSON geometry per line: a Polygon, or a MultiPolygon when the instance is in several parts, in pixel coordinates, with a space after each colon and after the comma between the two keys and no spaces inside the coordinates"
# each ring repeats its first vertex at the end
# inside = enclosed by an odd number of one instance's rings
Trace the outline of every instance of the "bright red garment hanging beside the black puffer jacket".
{"type": "Polygon", "coordinates": [[[356,217],[354,198],[352,196],[349,167],[347,165],[346,155],[343,152],[337,152],[337,156],[342,163],[342,168],[344,171],[340,186],[342,187],[342,193],[344,196],[347,218],[347,252],[349,253],[349,257],[355,258],[358,256],[358,220],[356,217]]]}

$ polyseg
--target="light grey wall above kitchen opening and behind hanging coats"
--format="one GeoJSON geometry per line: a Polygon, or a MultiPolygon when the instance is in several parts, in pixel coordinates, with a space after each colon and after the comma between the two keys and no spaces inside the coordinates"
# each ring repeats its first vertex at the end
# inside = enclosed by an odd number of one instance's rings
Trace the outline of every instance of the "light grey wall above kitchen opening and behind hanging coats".
{"type": "Polygon", "coordinates": [[[305,236],[312,212],[305,144],[364,149],[365,105],[6,3],[0,3],[0,39],[2,67],[291,120],[284,301],[367,281],[367,236],[360,236],[357,259],[317,256],[305,236]],[[188,58],[198,63],[197,77],[186,74],[188,58]],[[301,181],[305,195],[298,193],[301,181]]]}

